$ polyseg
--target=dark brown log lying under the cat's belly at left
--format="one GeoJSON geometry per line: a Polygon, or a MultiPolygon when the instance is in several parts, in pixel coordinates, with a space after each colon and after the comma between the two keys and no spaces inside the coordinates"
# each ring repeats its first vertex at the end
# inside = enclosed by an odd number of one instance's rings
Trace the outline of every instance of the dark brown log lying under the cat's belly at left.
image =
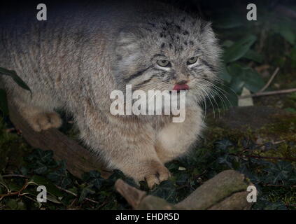
{"type": "Polygon", "coordinates": [[[99,170],[101,176],[108,177],[111,173],[104,170],[104,165],[95,160],[94,155],[80,146],[73,139],[57,129],[50,129],[43,132],[35,132],[28,123],[20,116],[13,104],[8,104],[9,118],[22,136],[34,148],[52,150],[56,160],[65,160],[68,171],[78,178],[85,172],[99,170]]]}

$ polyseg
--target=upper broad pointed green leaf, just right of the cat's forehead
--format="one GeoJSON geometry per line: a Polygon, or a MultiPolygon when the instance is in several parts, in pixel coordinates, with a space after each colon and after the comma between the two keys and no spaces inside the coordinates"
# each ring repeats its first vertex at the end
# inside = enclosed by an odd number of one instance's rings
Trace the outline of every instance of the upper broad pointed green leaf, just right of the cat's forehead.
{"type": "Polygon", "coordinates": [[[256,36],[248,35],[240,41],[235,42],[230,48],[226,48],[224,51],[224,62],[234,62],[246,55],[246,52],[248,52],[251,45],[255,43],[256,39],[256,36]]]}

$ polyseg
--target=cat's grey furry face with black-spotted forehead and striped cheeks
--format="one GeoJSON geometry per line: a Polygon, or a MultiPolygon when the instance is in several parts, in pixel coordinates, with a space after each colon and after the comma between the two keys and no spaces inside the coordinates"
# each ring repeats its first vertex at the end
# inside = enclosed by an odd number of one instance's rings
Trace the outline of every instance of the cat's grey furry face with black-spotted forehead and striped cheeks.
{"type": "Polygon", "coordinates": [[[220,48],[207,22],[179,15],[120,31],[115,76],[124,90],[186,90],[202,101],[217,78],[220,48]]]}

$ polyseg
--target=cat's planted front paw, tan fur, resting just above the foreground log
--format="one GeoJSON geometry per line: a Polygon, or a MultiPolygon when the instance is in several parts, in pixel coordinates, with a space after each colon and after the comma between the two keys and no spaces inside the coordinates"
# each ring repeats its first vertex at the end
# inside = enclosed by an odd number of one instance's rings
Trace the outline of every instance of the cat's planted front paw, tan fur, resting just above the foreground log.
{"type": "Polygon", "coordinates": [[[139,169],[134,179],[136,181],[146,181],[150,189],[162,181],[166,181],[171,176],[167,167],[157,161],[144,162],[139,169]]]}

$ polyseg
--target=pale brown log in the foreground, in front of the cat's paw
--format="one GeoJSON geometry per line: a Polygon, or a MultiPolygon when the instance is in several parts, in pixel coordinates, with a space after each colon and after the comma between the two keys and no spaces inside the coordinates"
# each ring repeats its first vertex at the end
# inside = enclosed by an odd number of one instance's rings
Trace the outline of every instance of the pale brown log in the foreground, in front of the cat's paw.
{"type": "Polygon", "coordinates": [[[129,186],[122,180],[115,183],[115,189],[133,209],[146,210],[246,210],[252,203],[246,200],[247,187],[252,185],[244,174],[234,170],[220,172],[192,192],[178,204],[171,204],[160,197],[147,195],[145,192],[129,186]]]}

